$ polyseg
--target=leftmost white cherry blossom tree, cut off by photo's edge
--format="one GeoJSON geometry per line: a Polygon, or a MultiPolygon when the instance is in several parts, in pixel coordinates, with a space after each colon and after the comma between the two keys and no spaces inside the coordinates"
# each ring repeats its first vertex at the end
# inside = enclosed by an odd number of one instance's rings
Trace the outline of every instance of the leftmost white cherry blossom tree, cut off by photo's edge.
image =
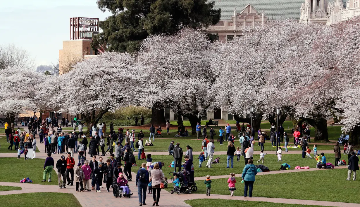
{"type": "Polygon", "coordinates": [[[24,68],[8,67],[0,74],[0,114],[9,124],[21,113],[36,112],[37,84],[44,75],[24,68]]]}

